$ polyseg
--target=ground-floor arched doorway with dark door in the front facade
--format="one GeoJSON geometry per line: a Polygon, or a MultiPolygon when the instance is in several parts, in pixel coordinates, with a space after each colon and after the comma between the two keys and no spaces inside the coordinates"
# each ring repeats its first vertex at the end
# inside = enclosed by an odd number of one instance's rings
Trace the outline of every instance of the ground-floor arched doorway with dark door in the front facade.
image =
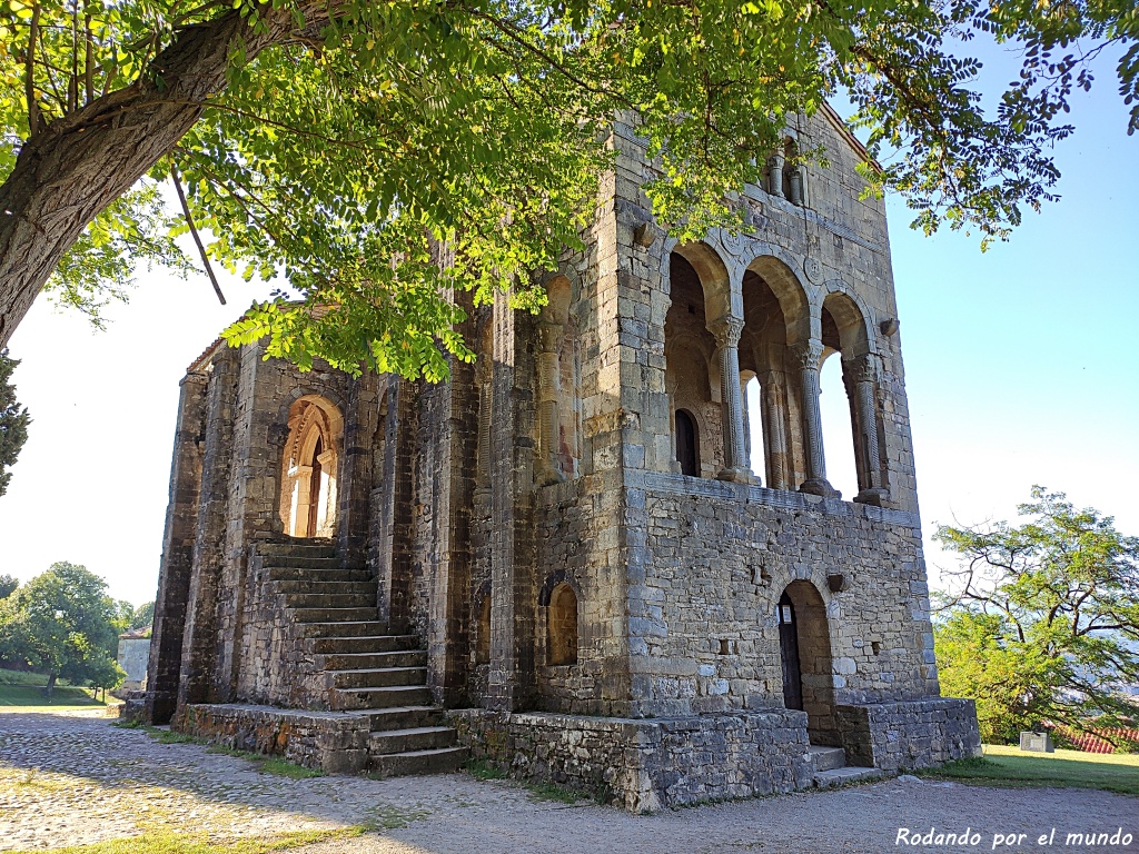
{"type": "Polygon", "coordinates": [[[810,582],[794,581],[784,590],[776,607],[784,703],[787,708],[806,712],[812,744],[838,745],[830,630],[822,596],[810,582]],[[796,703],[798,705],[793,705],[796,703]]]}

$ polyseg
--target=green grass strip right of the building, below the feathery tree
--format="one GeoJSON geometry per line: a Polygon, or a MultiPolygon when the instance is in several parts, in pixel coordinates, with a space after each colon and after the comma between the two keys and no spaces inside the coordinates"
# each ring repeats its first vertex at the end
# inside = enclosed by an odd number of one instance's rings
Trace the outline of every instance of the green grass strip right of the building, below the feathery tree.
{"type": "Polygon", "coordinates": [[[1139,795],[1139,755],[1080,750],[1023,753],[1018,747],[985,745],[984,757],[918,771],[919,777],[1007,788],[1101,789],[1139,795]]]}

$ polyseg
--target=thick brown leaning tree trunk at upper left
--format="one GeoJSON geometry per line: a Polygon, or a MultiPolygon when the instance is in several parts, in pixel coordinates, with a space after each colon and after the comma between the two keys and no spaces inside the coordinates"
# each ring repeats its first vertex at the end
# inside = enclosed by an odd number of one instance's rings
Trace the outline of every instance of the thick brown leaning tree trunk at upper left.
{"type": "MultiPolygon", "coordinates": [[[[301,5],[305,28],[328,20],[328,3],[301,5]]],[[[40,130],[0,186],[0,347],[83,229],[167,154],[226,87],[230,50],[246,60],[295,32],[293,10],[262,7],[254,32],[237,11],[178,32],[125,89],[40,130]]]]}

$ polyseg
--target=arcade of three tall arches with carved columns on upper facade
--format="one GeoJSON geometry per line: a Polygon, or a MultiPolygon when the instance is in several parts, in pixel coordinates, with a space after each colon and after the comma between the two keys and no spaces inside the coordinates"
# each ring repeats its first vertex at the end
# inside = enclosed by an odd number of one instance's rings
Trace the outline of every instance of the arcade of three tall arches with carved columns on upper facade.
{"type": "Polygon", "coordinates": [[[806,295],[777,258],[756,258],[744,273],[740,317],[729,307],[728,272],[708,247],[678,247],[669,271],[665,388],[674,470],[745,483],[762,477],[775,490],[837,496],[827,481],[819,372],[838,354],[855,445],[854,500],[880,504],[886,490],[877,362],[855,303],[828,294],[818,318],[821,335],[812,337],[806,295]],[[748,383],[759,385],[759,411],[747,405],[748,383]],[[753,473],[748,445],[756,420],[763,469],[753,473]]]}

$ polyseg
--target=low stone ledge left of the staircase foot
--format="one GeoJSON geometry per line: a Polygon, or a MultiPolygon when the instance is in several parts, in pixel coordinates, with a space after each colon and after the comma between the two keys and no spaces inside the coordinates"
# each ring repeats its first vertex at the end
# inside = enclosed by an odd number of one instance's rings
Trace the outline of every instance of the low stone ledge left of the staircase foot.
{"type": "Polygon", "coordinates": [[[235,750],[282,756],[333,774],[355,774],[368,766],[371,718],[344,712],[200,704],[180,708],[171,729],[235,750]]]}

